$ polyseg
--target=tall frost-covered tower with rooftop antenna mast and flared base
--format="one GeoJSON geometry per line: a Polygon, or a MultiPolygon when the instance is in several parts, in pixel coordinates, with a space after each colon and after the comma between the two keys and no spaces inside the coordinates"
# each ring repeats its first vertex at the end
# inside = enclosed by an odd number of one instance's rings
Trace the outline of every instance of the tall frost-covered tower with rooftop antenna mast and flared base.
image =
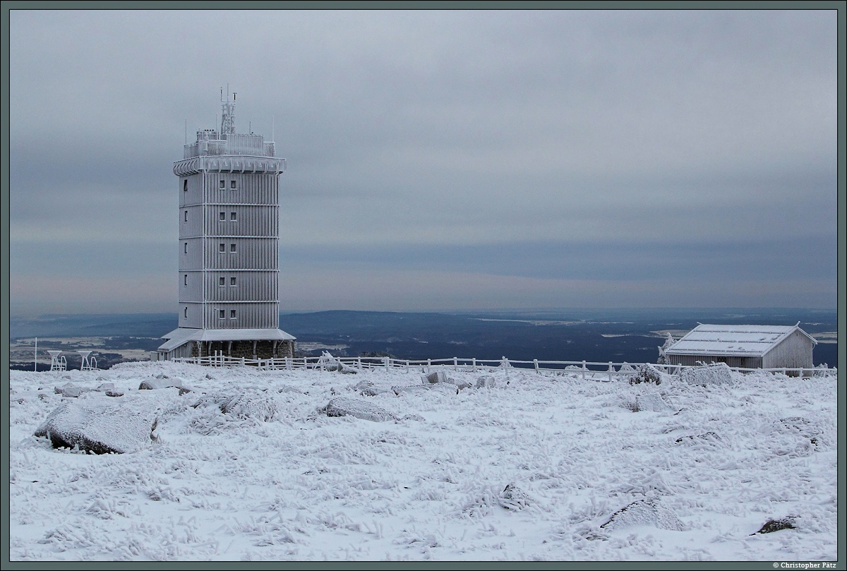
{"type": "MultiPolygon", "coordinates": [[[[179,177],[179,327],[158,360],[294,356],[280,330],[280,174],[274,141],[235,133],[235,93],[219,129],[197,131],[179,177]]],[[[229,90],[227,90],[229,91],[229,90]]],[[[271,136],[273,139],[273,134],[271,136]]]]}

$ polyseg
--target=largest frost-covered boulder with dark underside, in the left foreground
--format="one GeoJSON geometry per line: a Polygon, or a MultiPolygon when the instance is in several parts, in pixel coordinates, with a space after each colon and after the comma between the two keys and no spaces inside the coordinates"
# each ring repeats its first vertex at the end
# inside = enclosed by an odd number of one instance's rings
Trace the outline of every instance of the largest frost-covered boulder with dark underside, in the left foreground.
{"type": "Polygon", "coordinates": [[[151,442],[155,411],[101,402],[64,402],[35,432],[54,448],[79,446],[95,454],[136,452],[151,442]]]}

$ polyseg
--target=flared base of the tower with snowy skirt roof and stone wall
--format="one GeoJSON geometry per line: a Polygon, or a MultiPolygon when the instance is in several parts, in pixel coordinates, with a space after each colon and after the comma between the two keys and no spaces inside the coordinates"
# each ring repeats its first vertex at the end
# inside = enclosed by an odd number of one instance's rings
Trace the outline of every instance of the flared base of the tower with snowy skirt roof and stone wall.
{"type": "Polygon", "coordinates": [[[163,335],[159,361],[224,355],[233,358],[293,358],[295,337],[279,329],[202,330],[180,327],[163,335]]]}

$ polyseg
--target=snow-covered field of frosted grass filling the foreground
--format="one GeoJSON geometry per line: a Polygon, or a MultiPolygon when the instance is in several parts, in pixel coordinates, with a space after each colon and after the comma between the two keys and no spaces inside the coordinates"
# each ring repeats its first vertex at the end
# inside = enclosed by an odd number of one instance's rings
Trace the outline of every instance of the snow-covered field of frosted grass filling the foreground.
{"type": "Polygon", "coordinates": [[[10,557],[836,558],[834,377],[734,374],[728,385],[666,378],[656,387],[445,372],[473,386],[397,396],[391,386],[421,383],[420,370],[401,369],[11,371],[10,557]],[[192,391],[138,390],[159,375],[192,391]],[[494,386],[475,388],[484,375],[494,386]],[[54,392],[67,383],[113,383],[125,394],[54,392]],[[321,412],[340,397],[390,418],[321,412]],[[667,408],[634,412],[636,401],[667,408]],[[33,434],[63,402],[122,407],[127,419],[152,411],[154,440],[124,454],[53,449],[33,434]],[[652,512],[606,525],[645,498],[652,512]],[[794,529],[756,534],[786,517],[794,529]]]}

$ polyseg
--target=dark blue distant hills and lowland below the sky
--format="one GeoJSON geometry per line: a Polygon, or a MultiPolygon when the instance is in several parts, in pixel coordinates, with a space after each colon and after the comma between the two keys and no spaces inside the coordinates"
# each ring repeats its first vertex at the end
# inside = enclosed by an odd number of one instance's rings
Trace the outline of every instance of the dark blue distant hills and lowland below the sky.
{"type": "MultiPolygon", "coordinates": [[[[700,323],[795,324],[811,335],[837,330],[834,311],[810,309],[557,309],[476,313],[323,311],[282,313],[280,328],[302,350],[322,346],[341,355],[388,353],[396,358],[480,358],[655,362],[663,330],[700,323]]],[[[176,313],[42,315],[10,319],[12,339],[26,337],[152,337],[177,324],[176,313]]],[[[154,342],[155,344],[155,342],[154,342]]],[[[144,348],[148,349],[148,346],[144,348]]],[[[838,344],[819,343],[814,363],[838,365],[838,344]]]]}

